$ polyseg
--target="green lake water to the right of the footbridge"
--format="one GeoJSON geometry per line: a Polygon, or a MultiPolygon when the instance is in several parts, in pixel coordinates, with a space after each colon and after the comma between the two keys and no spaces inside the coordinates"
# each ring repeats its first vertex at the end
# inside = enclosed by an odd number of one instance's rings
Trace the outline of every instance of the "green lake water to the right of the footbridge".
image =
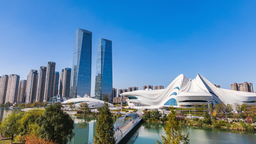
{"type": "MultiPolygon", "coordinates": [[[[156,144],[157,138],[162,141],[161,134],[165,124],[143,123],[127,144],[156,144]],[[137,134],[138,132],[138,134],[137,134]]],[[[182,126],[182,134],[188,134],[190,144],[255,144],[254,132],[237,132],[230,129],[182,126]]]]}

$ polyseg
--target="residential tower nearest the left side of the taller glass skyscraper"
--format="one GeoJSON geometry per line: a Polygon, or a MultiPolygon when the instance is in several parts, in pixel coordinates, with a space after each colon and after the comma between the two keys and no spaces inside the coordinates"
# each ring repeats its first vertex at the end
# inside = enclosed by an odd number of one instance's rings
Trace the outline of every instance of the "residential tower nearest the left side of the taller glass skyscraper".
{"type": "Polygon", "coordinates": [[[70,79],[71,68],[62,69],[60,77],[60,96],[67,97],[70,95],[70,79]]]}

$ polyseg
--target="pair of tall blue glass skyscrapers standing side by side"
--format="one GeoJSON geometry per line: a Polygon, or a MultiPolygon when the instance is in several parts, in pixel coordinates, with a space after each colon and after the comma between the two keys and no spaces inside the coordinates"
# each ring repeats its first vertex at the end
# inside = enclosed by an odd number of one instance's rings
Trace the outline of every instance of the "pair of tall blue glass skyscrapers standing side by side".
{"type": "MultiPolygon", "coordinates": [[[[92,32],[78,28],[74,43],[70,96],[89,97],[91,94],[92,32]]],[[[95,98],[112,101],[112,41],[98,40],[95,98]]]]}

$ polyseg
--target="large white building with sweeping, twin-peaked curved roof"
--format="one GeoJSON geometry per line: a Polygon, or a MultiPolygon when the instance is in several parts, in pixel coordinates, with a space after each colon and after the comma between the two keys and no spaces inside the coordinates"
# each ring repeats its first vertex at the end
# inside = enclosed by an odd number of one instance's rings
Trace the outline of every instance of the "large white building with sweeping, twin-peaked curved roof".
{"type": "Polygon", "coordinates": [[[256,94],[251,92],[232,91],[228,89],[217,88],[203,76],[198,74],[195,79],[188,79],[183,74],[176,77],[166,89],[159,90],[137,90],[124,92],[127,96],[129,106],[158,106],[158,107],[179,107],[186,105],[191,107],[192,104],[207,104],[207,101],[224,104],[234,104],[238,102],[243,104],[256,104],[256,94]]]}

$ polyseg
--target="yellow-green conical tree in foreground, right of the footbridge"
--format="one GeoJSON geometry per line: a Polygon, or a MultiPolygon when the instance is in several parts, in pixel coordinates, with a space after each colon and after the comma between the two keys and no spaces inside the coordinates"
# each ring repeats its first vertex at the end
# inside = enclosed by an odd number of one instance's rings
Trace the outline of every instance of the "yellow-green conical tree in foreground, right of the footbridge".
{"type": "MultiPolygon", "coordinates": [[[[167,137],[162,137],[163,144],[189,144],[189,133],[187,136],[182,135],[182,129],[180,128],[180,120],[176,118],[176,112],[172,108],[168,117],[167,124],[164,128],[167,137]]],[[[156,139],[157,144],[162,144],[156,139]]]]}

